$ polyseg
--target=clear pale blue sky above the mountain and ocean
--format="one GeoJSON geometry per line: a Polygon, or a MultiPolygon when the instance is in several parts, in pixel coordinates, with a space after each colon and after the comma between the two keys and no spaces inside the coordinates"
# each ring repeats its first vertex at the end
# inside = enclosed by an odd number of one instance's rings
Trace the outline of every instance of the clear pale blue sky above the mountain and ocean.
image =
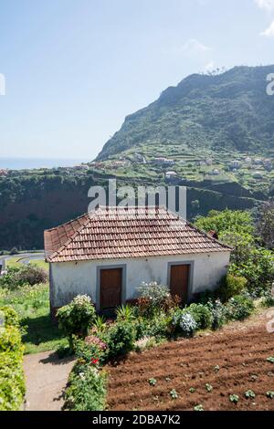
{"type": "Polygon", "coordinates": [[[0,156],[91,160],[163,89],[273,46],[274,0],[0,0],[0,156]]]}

